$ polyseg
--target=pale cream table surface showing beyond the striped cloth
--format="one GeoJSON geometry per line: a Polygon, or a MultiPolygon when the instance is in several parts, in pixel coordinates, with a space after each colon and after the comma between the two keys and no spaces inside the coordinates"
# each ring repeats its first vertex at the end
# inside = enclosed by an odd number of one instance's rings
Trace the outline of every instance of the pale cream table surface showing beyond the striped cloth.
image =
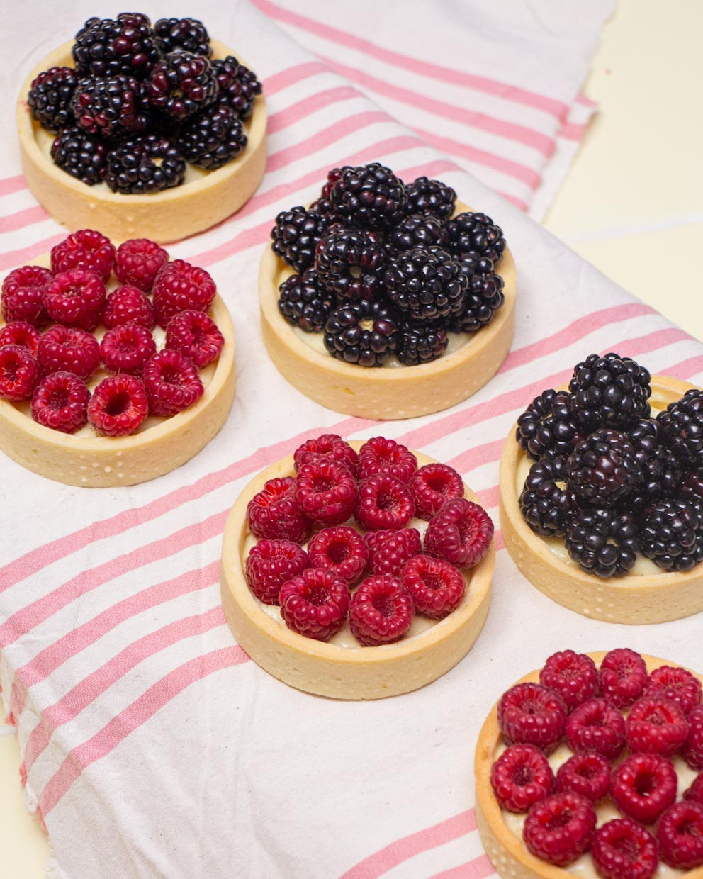
{"type": "MultiPolygon", "coordinates": [[[[620,0],[585,86],[600,105],[545,227],[583,258],[703,340],[703,284],[689,251],[703,245],[703,4],[620,0]],[[652,63],[656,58],[656,64],[652,63]],[[599,181],[599,185],[594,185],[599,181]]],[[[47,839],[27,815],[18,746],[0,727],[0,875],[41,879],[47,839]]]]}

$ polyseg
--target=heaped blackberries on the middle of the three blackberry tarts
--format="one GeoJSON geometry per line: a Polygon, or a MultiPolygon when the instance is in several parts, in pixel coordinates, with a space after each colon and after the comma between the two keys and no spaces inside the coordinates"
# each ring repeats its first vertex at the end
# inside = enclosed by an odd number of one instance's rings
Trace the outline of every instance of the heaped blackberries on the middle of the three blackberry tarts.
{"type": "Polygon", "coordinates": [[[281,315],[323,332],[347,363],[437,360],[449,333],[481,330],[504,303],[503,231],[486,214],[453,216],[455,206],[439,180],[405,185],[380,163],[333,168],[320,197],[282,211],[271,231],[296,272],[279,287],[281,315]]]}

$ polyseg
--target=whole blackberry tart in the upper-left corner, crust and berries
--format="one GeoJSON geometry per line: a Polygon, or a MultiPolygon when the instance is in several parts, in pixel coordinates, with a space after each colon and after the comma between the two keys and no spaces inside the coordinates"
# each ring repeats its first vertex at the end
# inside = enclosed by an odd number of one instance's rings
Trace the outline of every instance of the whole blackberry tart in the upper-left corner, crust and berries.
{"type": "Polygon", "coordinates": [[[264,175],[256,76],[192,18],[89,18],[19,92],[22,171],[69,229],[168,243],[208,229],[264,175]]]}

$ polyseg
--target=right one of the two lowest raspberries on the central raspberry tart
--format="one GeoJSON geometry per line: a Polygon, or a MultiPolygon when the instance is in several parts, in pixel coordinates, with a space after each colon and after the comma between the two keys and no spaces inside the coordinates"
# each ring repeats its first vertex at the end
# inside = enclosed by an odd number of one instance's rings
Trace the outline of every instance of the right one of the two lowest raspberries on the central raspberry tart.
{"type": "Polygon", "coordinates": [[[399,641],[414,617],[415,606],[409,592],[389,574],[367,577],[352,595],[349,622],[365,647],[399,641]]]}

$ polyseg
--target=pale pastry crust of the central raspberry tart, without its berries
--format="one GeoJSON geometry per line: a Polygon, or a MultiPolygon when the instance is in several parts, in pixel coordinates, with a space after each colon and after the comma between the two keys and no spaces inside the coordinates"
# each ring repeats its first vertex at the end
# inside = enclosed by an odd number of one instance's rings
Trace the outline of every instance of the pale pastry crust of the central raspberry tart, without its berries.
{"type": "MultiPolygon", "coordinates": [[[[358,450],[363,444],[352,441],[350,445],[358,450]]],[[[419,466],[432,462],[422,454],[416,457],[419,466]]],[[[409,693],[449,671],[471,649],[486,620],[495,563],[493,542],[482,561],[465,571],[466,592],[444,619],[416,617],[414,628],[402,640],[380,646],[360,646],[348,621],[334,642],[315,641],[286,628],[278,607],[260,603],[250,591],[245,573],[245,561],[256,540],[247,518],[250,500],[269,480],[294,475],[293,455],[264,469],[243,489],[225,525],[222,606],[243,650],[286,684],[336,699],[380,699],[409,693]]],[[[464,497],[474,498],[466,486],[464,497]]]]}

